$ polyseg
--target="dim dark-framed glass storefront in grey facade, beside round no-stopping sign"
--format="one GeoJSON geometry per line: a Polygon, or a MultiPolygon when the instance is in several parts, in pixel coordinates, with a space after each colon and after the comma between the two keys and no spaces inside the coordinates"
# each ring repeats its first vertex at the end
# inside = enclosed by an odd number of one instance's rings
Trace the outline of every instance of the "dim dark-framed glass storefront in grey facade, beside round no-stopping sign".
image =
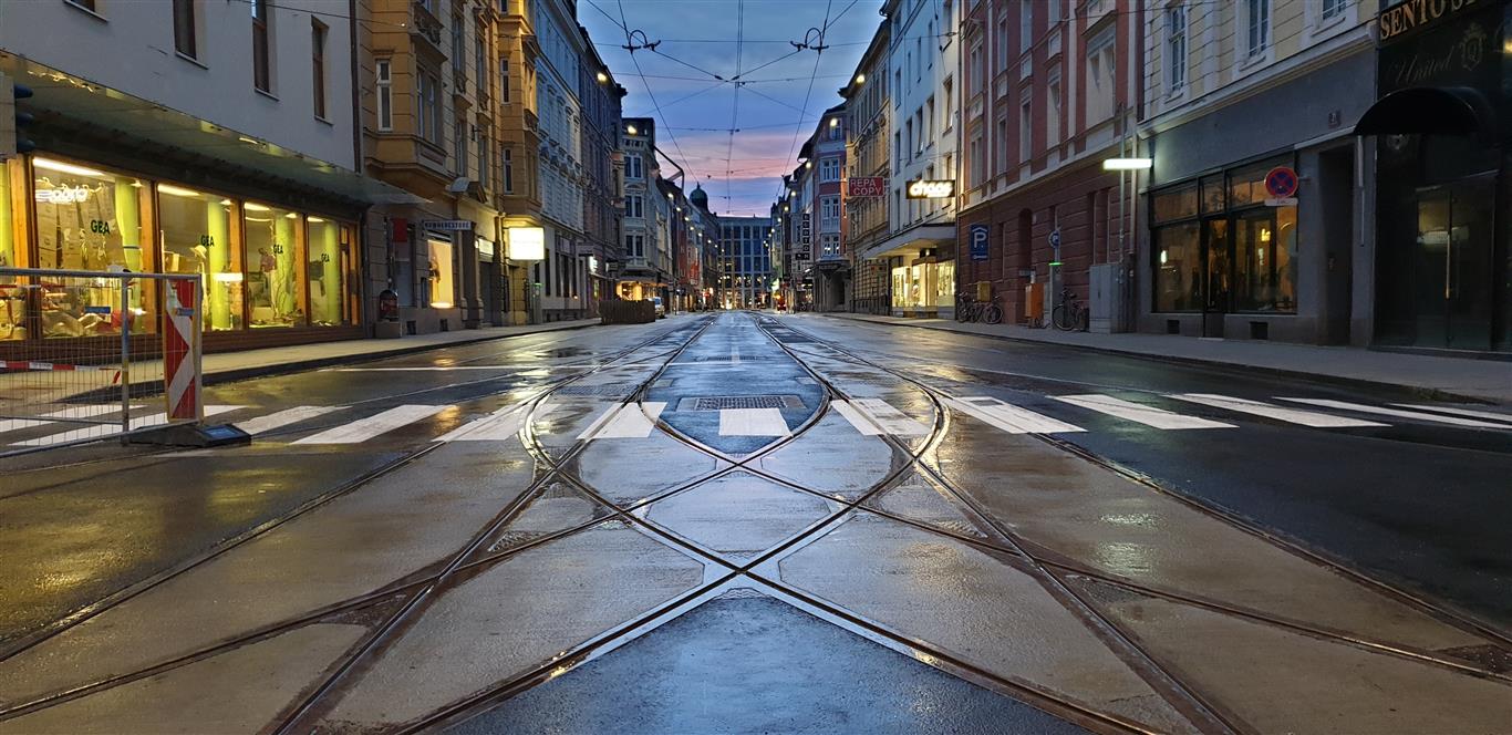
{"type": "Polygon", "coordinates": [[[1297,312],[1297,207],[1266,204],[1287,159],[1169,186],[1151,197],[1155,312],[1297,312]]]}

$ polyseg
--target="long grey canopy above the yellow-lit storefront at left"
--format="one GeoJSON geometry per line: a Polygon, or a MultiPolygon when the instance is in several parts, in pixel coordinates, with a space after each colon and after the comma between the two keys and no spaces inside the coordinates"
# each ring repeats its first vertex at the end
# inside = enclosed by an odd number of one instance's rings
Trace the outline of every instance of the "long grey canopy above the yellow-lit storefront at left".
{"type": "MultiPolygon", "coordinates": [[[[20,56],[0,53],[0,71],[36,92],[26,104],[41,118],[39,129],[53,129],[54,126],[45,118],[53,116],[67,126],[98,129],[112,138],[156,144],[159,148],[183,151],[207,163],[216,162],[230,175],[260,180],[268,186],[304,188],[354,203],[423,204],[426,201],[342,165],[260,141],[20,56]]],[[[54,132],[67,136],[65,129],[54,132]]]]}

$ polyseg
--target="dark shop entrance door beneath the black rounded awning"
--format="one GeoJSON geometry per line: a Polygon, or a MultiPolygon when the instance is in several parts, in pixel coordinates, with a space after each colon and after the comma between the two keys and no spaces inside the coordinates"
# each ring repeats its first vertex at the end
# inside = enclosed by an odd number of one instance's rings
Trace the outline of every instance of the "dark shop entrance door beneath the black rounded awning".
{"type": "Polygon", "coordinates": [[[1495,269],[1491,180],[1418,191],[1417,343],[1491,349],[1495,269]]]}

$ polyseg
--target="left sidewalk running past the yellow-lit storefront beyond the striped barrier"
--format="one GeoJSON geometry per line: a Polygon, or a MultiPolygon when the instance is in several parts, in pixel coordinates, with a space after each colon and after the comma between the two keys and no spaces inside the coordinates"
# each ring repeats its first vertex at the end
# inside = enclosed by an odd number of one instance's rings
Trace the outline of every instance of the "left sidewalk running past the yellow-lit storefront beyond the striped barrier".
{"type": "MultiPolygon", "coordinates": [[[[281,372],[298,372],[331,364],[378,360],[384,357],[423,352],[452,345],[469,345],[500,337],[519,337],[547,331],[581,330],[593,327],[599,319],[572,322],[528,324],[523,327],[485,327],[481,330],[438,331],[434,334],[410,334],[399,339],[351,339],[314,345],[292,345],[240,352],[216,352],[204,355],[204,381],[228,383],[281,372]]],[[[153,361],[156,366],[157,361],[153,361]]]]}

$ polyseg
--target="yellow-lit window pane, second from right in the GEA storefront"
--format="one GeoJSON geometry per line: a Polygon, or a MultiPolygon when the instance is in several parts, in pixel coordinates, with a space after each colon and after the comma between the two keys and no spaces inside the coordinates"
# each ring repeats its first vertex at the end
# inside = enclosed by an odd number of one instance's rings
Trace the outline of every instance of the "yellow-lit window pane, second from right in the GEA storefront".
{"type": "Polygon", "coordinates": [[[304,233],[295,212],[243,206],[248,318],[254,328],[304,324],[304,233]]]}

